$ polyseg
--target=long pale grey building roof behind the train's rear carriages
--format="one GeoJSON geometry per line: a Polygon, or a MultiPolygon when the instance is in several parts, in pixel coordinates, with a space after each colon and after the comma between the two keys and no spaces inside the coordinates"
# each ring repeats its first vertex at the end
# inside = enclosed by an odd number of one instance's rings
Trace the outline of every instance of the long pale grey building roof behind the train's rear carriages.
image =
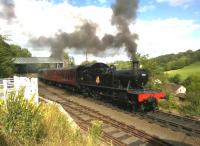
{"type": "Polygon", "coordinates": [[[51,57],[18,57],[15,64],[37,64],[37,63],[63,63],[62,59],[51,57]]]}

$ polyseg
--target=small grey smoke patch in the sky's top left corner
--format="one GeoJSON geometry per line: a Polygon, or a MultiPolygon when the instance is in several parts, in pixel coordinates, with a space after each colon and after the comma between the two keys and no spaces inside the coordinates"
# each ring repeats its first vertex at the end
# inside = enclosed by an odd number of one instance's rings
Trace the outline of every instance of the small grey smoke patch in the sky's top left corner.
{"type": "Polygon", "coordinates": [[[10,21],[15,18],[15,4],[13,0],[0,0],[2,10],[0,11],[0,18],[10,21]]]}

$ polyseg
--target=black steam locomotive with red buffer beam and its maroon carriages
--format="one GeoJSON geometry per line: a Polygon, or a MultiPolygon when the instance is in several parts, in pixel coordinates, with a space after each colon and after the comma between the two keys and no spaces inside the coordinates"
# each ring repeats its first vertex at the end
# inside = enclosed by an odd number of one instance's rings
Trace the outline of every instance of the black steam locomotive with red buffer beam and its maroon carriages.
{"type": "Polygon", "coordinates": [[[106,99],[133,111],[156,110],[157,101],[165,98],[161,91],[145,89],[148,74],[133,61],[130,70],[116,70],[104,63],[80,65],[69,69],[41,70],[39,79],[93,98],[106,99]]]}

